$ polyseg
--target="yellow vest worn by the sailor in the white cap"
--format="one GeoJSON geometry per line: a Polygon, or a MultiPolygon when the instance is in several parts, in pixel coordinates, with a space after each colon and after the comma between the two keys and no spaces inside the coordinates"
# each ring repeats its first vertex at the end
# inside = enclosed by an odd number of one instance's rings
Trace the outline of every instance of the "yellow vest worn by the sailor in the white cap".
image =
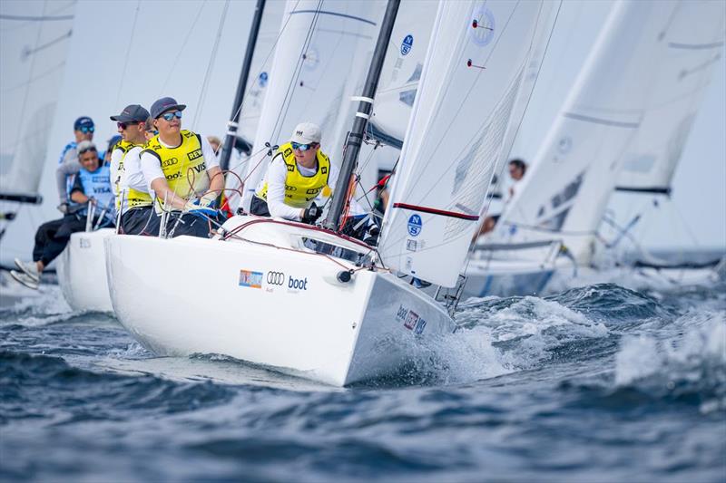
{"type": "MultiPolygon", "coordinates": [[[[292,145],[288,142],[280,146],[278,154],[288,168],[288,176],[285,178],[285,204],[292,208],[308,208],[323,188],[328,188],[330,176],[330,159],[321,150],[318,150],[318,171],[314,176],[302,176],[295,161],[295,154],[292,152],[292,145]]],[[[275,159],[272,158],[272,159],[275,159]]],[[[267,201],[267,181],[258,189],[255,196],[267,201]]]]}

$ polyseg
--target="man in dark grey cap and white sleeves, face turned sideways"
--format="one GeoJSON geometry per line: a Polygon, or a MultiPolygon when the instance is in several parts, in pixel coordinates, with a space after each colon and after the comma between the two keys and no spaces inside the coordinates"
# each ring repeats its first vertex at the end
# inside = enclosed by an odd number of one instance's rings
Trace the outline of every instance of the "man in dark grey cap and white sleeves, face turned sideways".
{"type": "Polygon", "coordinates": [[[111,116],[123,140],[111,154],[111,179],[116,194],[116,209],[121,211],[121,233],[158,235],[159,219],[152,213],[153,199],[141,171],[141,153],[151,125],[149,111],[130,104],[121,114],[111,116]]]}

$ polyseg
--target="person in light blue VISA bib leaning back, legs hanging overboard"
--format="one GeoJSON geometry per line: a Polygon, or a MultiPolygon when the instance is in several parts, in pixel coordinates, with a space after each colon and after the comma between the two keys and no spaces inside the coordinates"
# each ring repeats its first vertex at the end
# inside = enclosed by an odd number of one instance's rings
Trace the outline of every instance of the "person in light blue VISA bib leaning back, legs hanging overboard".
{"type": "MultiPolygon", "coordinates": [[[[74,179],[70,198],[78,205],[90,206],[93,204],[95,206],[94,226],[111,226],[113,224],[113,190],[110,168],[102,165],[92,141],[79,142],[75,150],[78,151],[78,160],[82,168],[74,179]],[[99,220],[99,218],[101,219],[99,220]]],[[[37,289],[40,274],[56,256],[63,252],[71,234],[85,229],[88,209],[76,210],[38,227],[35,232],[33,261],[23,262],[15,258],[15,265],[19,271],[11,270],[10,275],[17,282],[37,289]]]]}

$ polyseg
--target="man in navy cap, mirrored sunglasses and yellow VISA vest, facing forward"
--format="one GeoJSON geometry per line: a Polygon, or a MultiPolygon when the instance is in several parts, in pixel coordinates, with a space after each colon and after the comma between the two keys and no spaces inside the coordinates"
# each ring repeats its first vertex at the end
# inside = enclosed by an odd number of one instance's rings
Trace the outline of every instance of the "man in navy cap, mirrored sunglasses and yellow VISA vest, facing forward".
{"type": "Polygon", "coordinates": [[[209,237],[209,220],[219,221],[216,203],[224,177],[209,141],[182,130],[185,108],[171,97],[152,104],[153,126],[159,134],[142,150],[141,169],[149,192],[156,196],[157,215],[170,212],[167,234],[209,237]]]}

